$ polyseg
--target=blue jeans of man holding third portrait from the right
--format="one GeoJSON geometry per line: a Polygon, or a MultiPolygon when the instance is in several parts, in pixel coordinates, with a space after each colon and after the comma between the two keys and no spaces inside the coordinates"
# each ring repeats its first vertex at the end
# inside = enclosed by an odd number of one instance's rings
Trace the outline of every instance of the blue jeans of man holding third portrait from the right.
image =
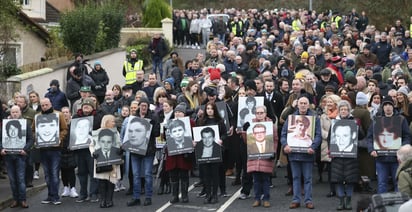
{"type": "Polygon", "coordinates": [[[304,202],[312,202],[312,161],[290,161],[293,177],[293,200],[294,203],[301,202],[301,177],[303,175],[303,189],[305,191],[304,202]]]}

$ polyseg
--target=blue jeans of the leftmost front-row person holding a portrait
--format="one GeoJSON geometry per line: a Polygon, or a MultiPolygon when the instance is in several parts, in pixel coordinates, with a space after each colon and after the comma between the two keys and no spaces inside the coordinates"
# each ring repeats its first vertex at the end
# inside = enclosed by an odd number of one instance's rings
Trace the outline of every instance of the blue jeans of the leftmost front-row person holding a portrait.
{"type": "Polygon", "coordinates": [[[13,199],[18,202],[26,201],[26,158],[23,155],[4,156],[13,199]]]}

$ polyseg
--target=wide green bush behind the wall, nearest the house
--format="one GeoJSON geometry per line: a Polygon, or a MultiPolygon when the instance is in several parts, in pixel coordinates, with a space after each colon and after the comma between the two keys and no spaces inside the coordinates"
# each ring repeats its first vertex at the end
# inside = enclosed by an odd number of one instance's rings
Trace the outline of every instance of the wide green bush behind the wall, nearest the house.
{"type": "Polygon", "coordinates": [[[115,48],[123,26],[122,6],[89,4],[67,12],[60,19],[62,38],[72,52],[92,54],[115,48]]]}

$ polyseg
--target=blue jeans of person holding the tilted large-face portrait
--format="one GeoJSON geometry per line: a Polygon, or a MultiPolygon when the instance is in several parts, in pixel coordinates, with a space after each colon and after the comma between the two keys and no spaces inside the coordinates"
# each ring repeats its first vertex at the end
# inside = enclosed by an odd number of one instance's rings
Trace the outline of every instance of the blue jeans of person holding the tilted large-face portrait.
{"type": "Polygon", "coordinates": [[[131,156],[132,171],[133,171],[133,198],[140,199],[140,189],[141,189],[140,177],[143,174],[144,174],[144,179],[145,179],[146,198],[152,198],[152,195],[153,195],[152,168],[153,168],[154,156],[140,156],[136,154],[130,154],[130,156],[131,156]]]}

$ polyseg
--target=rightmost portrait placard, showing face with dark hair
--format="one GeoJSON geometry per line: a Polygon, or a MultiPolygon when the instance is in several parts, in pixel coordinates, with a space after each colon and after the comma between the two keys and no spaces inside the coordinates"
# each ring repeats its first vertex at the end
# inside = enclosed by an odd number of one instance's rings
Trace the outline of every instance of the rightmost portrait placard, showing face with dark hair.
{"type": "Polygon", "coordinates": [[[401,122],[396,117],[376,117],[373,149],[379,154],[396,155],[402,146],[401,122]]]}

